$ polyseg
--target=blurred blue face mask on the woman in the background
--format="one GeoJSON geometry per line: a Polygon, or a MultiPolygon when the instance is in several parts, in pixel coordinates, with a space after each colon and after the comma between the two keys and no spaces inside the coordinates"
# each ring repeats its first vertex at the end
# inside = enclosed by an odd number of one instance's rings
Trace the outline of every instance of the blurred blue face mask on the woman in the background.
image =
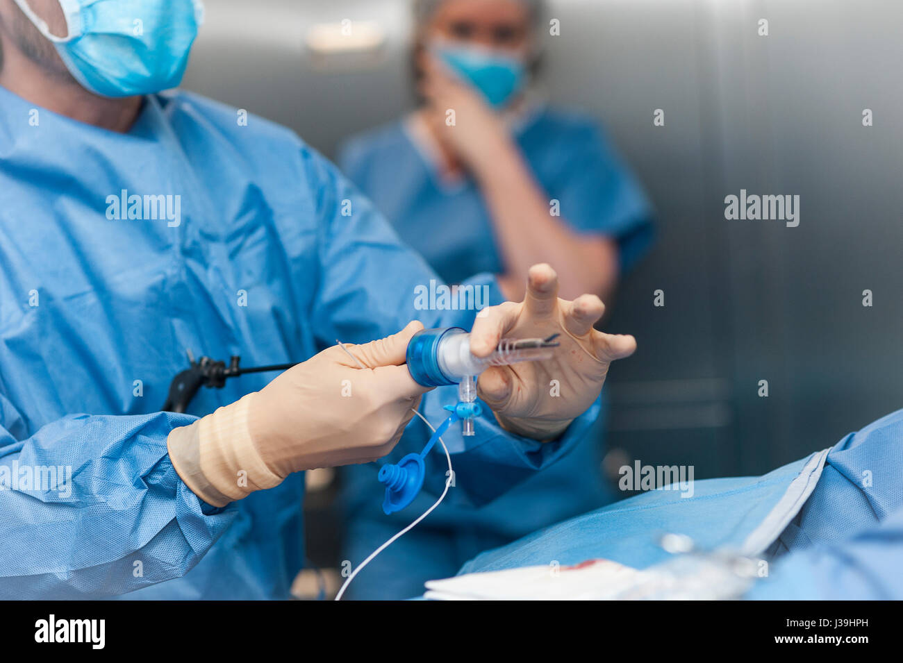
{"type": "Polygon", "coordinates": [[[494,108],[507,106],[526,86],[524,61],[505,51],[435,44],[433,52],[458,76],[479,89],[494,108]]]}

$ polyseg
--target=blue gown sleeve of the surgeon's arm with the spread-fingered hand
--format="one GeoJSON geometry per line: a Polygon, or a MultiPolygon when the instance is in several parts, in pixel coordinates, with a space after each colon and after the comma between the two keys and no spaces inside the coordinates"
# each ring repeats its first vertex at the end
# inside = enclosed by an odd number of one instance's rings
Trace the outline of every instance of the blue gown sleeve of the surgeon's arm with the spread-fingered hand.
{"type": "MultiPolygon", "coordinates": [[[[423,298],[418,299],[418,291],[444,288],[442,281],[423,258],[401,244],[386,220],[334,166],[315,152],[304,154],[303,165],[304,177],[318,192],[321,272],[312,319],[322,345],[333,345],[337,340],[365,343],[394,334],[414,319],[425,327],[470,329],[477,312],[473,307],[421,306],[423,298]]],[[[462,285],[485,293],[486,304],[502,301],[498,283],[489,274],[462,285]]],[[[448,416],[442,406],[457,400],[456,386],[440,387],[424,396],[421,413],[438,428],[448,416]]],[[[599,410],[597,399],[561,437],[545,444],[500,428],[489,408],[484,408],[476,422],[476,436],[463,437],[460,425],[453,426],[442,437],[452,456],[456,488],[446,499],[473,505],[495,499],[568,453],[586,434],[599,410]]],[[[423,421],[415,418],[391,459],[420,452],[429,436],[423,421]]],[[[424,482],[424,488],[433,494],[442,491],[448,473],[442,451],[436,448],[427,463],[424,482]]]]}

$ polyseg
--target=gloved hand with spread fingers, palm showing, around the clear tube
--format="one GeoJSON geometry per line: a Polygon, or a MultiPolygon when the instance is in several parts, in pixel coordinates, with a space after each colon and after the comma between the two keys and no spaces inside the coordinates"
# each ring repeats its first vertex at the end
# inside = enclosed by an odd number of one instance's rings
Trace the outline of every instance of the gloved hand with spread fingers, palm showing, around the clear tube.
{"type": "Polygon", "coordinates": [[[592,326],[605,305],[595,295],[558,299],[558,277],[547,264],[530,268],[526,297],[484,308],[470,332],[470,352],[488,356],[502,338],[559,334],[551,359],[494,366],[479,375],[479,398],[495,412],[503,428],[549,440],[599,396],[609,365],[637,349],[633,336],[612,336],[592,326]]]}

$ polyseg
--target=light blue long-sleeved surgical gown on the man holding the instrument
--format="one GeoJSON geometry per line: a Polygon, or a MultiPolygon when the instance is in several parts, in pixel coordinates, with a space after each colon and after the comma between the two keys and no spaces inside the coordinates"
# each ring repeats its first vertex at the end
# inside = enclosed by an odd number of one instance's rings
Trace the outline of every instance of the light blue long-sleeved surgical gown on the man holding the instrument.
{"type": "MultiPolygon", "coordinates": [[[[186,349],[299,362],[410,319],[472,323],[473,311],[415,308],[434,273],[328,161],[282,127],[240,119],[155,95],[116,134],[0,87],[0,598],[288,597],[303,565],[303,474],[214,509],[166,451],[172,428],[273,376],[160,412],[186,349]],[[141,202],[117,218],[132,196],[141,202]],[[155,218],[145,196],[172,215],[155,218]]],[[[498,301],[493,279],[478,282],[498,301]]],[[[435,390],[424,416],[438,424],[456,400],[453,387],[435,390]]],[[[476,437],[450,431],[447,499],[498,497],[567,454],[599,407],[545,445],[490,413],[476,437]]],[[[417,421],[398,453],[423,447],[417,421]]],[[[444,458],[427,469],[438,492],[444,458]]]]}

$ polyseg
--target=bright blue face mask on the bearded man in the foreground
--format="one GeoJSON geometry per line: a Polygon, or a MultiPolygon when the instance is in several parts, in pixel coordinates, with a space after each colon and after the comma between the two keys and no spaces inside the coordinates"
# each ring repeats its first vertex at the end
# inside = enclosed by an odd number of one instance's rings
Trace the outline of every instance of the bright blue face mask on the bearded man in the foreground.
{"type": "Polygon", "coordinates": [[[179,85],[203,20],[200,0],[60,0],[69,32],[58,37],[28,0],[15,3],[81,86],[102,97],[179,85]]]}

